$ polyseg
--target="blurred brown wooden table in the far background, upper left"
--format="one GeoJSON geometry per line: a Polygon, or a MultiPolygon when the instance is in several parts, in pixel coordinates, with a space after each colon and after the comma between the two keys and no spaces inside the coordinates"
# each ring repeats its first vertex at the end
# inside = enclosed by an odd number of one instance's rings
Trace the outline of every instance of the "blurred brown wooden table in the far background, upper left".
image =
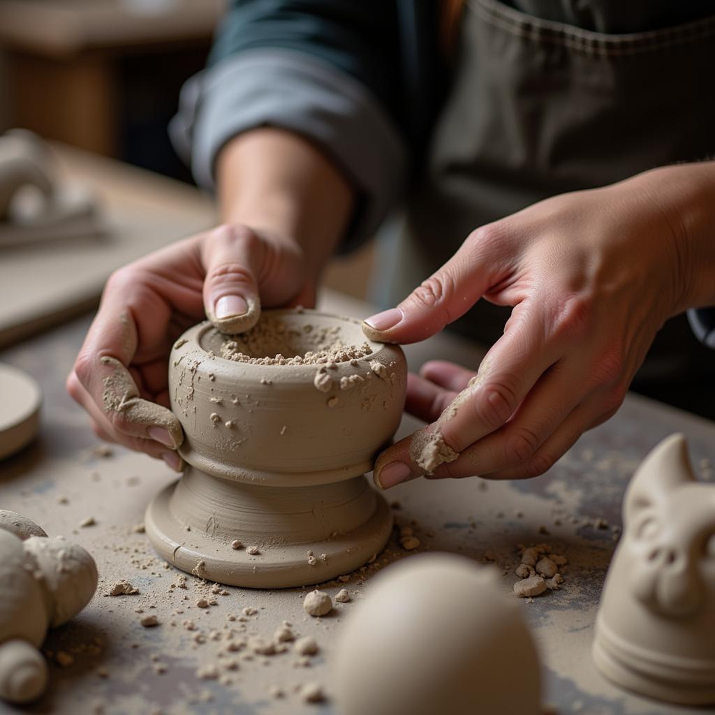
{"type": "Polygon", "coordinates": [[[142,54],[159,60],[144,63],[149,73],[192,74],[224,6],[225,0],[0,0],[10,121],[119,156],[122,60],[142,54]]]}

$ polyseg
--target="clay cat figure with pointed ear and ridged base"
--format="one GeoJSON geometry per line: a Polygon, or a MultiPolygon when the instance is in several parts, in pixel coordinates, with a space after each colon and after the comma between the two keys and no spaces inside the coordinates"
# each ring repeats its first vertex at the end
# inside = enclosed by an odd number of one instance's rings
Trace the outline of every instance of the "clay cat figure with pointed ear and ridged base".
{"type": "Polygon", "coordinates": [[[715,703],[715,485],[699,483],[686,439],[640,465],[596,619],[593,660],[614,683],[680,704],[715,703]]]}

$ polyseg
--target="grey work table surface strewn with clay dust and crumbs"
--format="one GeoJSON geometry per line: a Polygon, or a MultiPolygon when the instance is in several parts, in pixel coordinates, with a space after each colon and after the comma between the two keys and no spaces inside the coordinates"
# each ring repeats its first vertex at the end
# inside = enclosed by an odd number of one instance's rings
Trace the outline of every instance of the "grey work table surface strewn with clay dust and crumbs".
{"type": "MultiPolygon", "coordinates": [[[[332,292],[323,296],[322,307],[355,315],[369,310],[332,292]]],[[[336,604],[332,616],[321,619],[302,610],[307,589],[227,588],[227,595],[214,596],[212,583],[202,586],[192,576],[186,589],[170,586],[178,572],[156,557],[146,536],[134,527],[142,523],[149,498],[175,475],[163,463],[123,448],[98,450],[87,418],[64,393],[65,375],[88,325],[89,317],[84,317],[0,353],[0,360],[32,373],[45,395],[39,440],[0,463],[0,505],[33,518],[51,535],[64,534],[81,543],[94,554],[100,578],[94,601],[46,641],[48,651],[65,651],[74,663],[65,668],[53,664],[49,692],[23,711],[337,712],[330,700],[329,668],[342,622],[369,593],[373,573],[395,558],[409,558],[408,553],[393,537],[375,565],[350,574],[346,583],[328,584],[325,588],[333,596],[347,588],[352,602],[336,604]],[[80,528],[89,516],[97,523],[80,528]],[[127,578],[140,593],[105,596],[119,578],[127,578]],[[197,599],[204,595],[215,598],[217,605],[197,608],[197,599]],[[246,607],[257,613],[241,621],[246,607]],[[156,614],[160,625],[143,628],[138,611],[156,614]],[[284,620],[300,635],[317,639],[320,653],[310,666],[298,665],[292,653],[251,660],[241,654],[217,655],[225,646],[227,628],[270,638],[284,620]],[[187,621],[193,622],[193,630],[187,629],[187,621]],[[230,656],[237,656],[238,669],[224,669],[230,656]],[[199,678],[197,669],[207,664],[217,664],[230,683],[199,678]],[[295,694],[295,686],[309,681],[324,686],[324,704],[304,704],[295,694]],[[276,687],[282,697],[272,694],[276,687]]],[[[413,370],[429,357],[475,365],[481,355],[478,347],[448,335],[410,346],[407,352],[413,370]]],[[[415,425],[405,418],[402,433],[415,425]]],[[[388,493],[395,520],[415,527],[418,552],[452,551],[493,563],[507,595],[517,581],[513,570],[518,543],[546,541],[568,557],[562,590],[522,603],[541,649],[545,702],[558,713],[689,712],[615,689],[596,673],[589,655],[596,606],[618,536],[621,495],[638,461],[678,430],[688,436],[696,465],[706,458],[715,462],[714,423],[629,396],[615,418],[584,435],[541,478],[511,483],[417,480],[388,493]]],[[[701,471],[704,478],[712,477],[711,470],[701,471]]],[[[513,686],[518,684],[515,672],[513,686]]]]}

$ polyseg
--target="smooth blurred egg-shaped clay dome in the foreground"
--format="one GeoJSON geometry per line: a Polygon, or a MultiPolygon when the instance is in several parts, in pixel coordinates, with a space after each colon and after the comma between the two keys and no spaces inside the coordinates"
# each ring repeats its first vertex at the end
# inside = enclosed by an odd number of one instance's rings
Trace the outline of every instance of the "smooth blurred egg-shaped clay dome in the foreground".
{"type": "Polygon", "coordinates": [[[495,569],[462,556],[410,556],[381,572],[347,614],[333,676],[344,715],[541,714],[521,607],[495,569]]]}

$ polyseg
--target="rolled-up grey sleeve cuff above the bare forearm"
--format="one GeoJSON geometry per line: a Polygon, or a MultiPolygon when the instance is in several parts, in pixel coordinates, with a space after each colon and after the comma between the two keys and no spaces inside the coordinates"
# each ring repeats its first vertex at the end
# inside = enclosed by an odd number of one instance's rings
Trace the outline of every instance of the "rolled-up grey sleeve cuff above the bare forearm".
{"type": "Polygon", "coordinates": [[[169,131],[212,189],[217,154],[256,127],[300,134],[350,179],[358,213],[344,250],[373,235],[403,191],[407,152],[388,114],[358,80],[310,54],[252,49],[222,59],[184,85],[169,131]]]}

